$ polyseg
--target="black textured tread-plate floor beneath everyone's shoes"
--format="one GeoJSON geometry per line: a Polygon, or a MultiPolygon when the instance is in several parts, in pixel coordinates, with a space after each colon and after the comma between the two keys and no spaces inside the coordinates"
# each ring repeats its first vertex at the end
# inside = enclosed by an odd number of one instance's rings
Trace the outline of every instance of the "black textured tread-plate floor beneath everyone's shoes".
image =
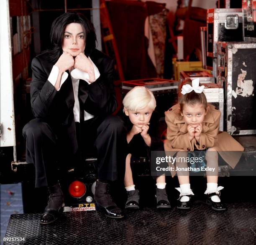
{"type": "Polygon", "coordinates": [[[235,203],[216,212],[205,203],[191,210],[126,212],[125,219],[100,211],[64,213],[56,223],[40,225],[40,214],[11,215],[4,244],[256,244],[256,204],[235,203]]]}

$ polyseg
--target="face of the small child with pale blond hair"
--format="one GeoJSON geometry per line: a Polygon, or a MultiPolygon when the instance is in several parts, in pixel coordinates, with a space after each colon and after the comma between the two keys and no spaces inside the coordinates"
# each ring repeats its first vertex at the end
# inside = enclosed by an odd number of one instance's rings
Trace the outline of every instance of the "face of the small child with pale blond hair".
{"type": "Polygon", "coordinates": [[[125,110],[125,115],[127,115],[133,125],[136,125],[138,128],[142,128],[143,125],[146,125],[151,118],[151,115],[154,110],[148,106],[143,109],[138,109],[136,111],[125,110]]]}

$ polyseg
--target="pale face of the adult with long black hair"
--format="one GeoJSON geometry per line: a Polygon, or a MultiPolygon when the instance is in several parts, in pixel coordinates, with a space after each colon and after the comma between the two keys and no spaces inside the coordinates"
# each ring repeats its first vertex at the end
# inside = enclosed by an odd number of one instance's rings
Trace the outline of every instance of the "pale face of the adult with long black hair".
{"type": "Polygon", "coordinates": [[[85,49],[85,33],[79,23],[70,23],[64,30],[62,50],[77,56],[85,49]]]}

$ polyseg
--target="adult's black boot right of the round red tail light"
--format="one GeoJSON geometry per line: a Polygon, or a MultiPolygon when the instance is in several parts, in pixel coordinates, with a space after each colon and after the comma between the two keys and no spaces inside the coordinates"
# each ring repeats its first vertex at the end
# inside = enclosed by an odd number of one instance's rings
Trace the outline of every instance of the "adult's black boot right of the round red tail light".
{"type": "Polygon", "coordinates": [[[123,218],[123,211],[113,202],[109,194],[109,184],[97,181],[94,199],[96,203],[104,210],[109,218],[123,218]]]}

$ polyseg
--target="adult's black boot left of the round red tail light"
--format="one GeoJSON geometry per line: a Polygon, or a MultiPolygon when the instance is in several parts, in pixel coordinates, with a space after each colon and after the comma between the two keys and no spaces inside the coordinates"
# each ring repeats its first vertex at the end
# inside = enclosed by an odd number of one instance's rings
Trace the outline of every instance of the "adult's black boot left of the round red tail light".
{"type": "Polygon", "coordinates": [[[59,218],[65,206],[64,195],[59,183],[48,187],[48,190],[50,193],[49,200],[46,208],[44,209],[44,213],[41,215],[41,224],[53,223],[56,219],[59,218]]]}

